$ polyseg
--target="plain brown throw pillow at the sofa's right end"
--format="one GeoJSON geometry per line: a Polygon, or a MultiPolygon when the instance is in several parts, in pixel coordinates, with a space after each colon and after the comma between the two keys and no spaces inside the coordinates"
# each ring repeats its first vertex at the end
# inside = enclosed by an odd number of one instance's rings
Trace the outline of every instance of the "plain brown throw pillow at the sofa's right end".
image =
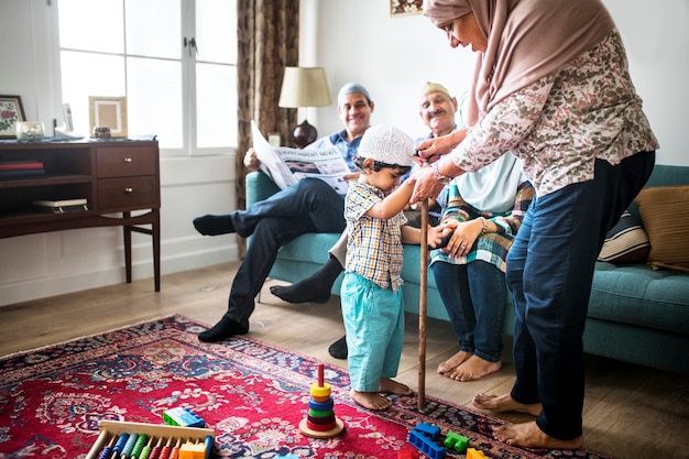
{"type": "Polygon", "coordinates": [[[689,272],[689,185],[644,188],[635,200],[650,240],[648,264],[689,272]]]}

